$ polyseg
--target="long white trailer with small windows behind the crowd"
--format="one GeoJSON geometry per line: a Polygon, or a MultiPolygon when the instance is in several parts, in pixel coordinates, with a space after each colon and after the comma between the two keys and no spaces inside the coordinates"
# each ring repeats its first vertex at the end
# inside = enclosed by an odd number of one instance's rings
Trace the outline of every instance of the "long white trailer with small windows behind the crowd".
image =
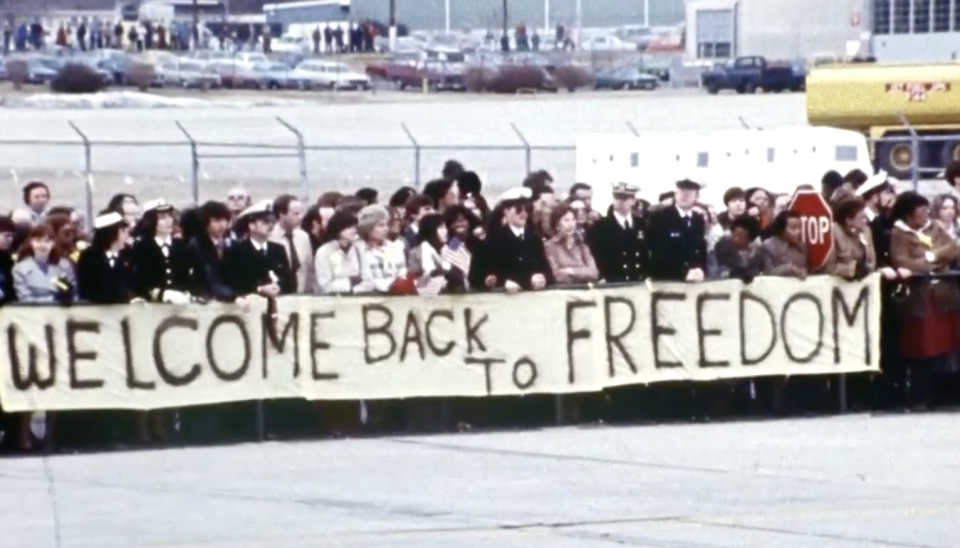
{"type": "Polygon", "coordinates": [[[831,169],[873,173],[866,137],[828,127],[592,134],[577,139],[576,154],[577,182],[593,187],[600,212],[610,205],[610,186],[621,181],[655,202],[689,178],[703,185],[704,203],[721,207],[732,186],[792,194],[802,184],[819,188],[831,169]]]}

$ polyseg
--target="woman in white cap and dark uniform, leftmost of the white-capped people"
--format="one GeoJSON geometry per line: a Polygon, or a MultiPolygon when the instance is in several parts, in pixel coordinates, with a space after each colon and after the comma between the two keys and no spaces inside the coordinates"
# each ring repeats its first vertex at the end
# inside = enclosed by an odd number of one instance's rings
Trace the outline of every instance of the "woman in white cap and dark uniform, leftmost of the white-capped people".
{"type": "Polygon", "coordinates": [[[93,220],[93,241],[77,260],[77,293],[96,304],[129,303],[133,270],[126,249],[130,228],[116,211],[104,211],[93,220]]]}

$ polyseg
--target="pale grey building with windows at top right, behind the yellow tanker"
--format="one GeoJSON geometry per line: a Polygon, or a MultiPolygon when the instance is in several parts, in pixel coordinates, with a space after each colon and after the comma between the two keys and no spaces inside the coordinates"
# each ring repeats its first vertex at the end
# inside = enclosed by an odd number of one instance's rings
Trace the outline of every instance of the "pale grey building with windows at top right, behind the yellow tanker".
{"type": "Polygon", "coordinates": [[[944,61],[960,53],[960,0],[687,0],[686,32],[691,58],[944,61]]]}

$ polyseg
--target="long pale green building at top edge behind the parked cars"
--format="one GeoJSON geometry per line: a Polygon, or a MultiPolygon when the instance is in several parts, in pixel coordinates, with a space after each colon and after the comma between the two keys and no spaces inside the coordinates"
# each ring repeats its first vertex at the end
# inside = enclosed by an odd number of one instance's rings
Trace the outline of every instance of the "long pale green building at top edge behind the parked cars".
{"type": "MultiPolygon", "coordinates": [[[[277,2],[264,8],[267,21],[291,23],[362,20],[386,22],[388,0],[304,0],[277,2]]],[[[668,26],[683,21],[683,0],[510,0],[510,27],[525,23],[531,28],[571,27],[580,4],[582,26],[668,26]],[[645,11],[649,8],[649,13],[645,11]]],[[[413,30],[498,29],[503,24],[502,0],[396,0],[397,20],[413,30]]]]}

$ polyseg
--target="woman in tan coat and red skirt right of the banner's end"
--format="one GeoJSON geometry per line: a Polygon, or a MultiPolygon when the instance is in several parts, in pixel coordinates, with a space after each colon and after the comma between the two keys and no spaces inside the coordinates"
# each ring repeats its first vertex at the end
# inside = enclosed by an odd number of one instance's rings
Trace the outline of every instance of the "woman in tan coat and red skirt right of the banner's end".
{"type": "MultiPolygon", "coordinates": [[[[923,196],[916,192],[901,194],[893,215],[893,267],[937,274],[947,271],[960,255],[953,238],[930,219],[930,204],[923,196]]],[[[900,353],[904,358],[914,362],[940,359],[960,350],[960,288],[956,280],[915,277],[909,295],[901,303],[900,314],[900,353]]]]}

